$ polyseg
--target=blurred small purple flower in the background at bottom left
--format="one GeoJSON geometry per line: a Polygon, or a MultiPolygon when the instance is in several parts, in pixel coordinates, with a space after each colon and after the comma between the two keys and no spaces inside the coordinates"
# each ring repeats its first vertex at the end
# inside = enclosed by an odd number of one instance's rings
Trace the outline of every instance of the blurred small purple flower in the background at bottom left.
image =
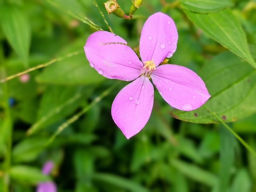
{"type": "MultiPolygon", "coordinates": [[[[54,164],[51,161],[48,161],[44,164],[44,167],[42,169],[42,173],[45,175],[50,174],[54,164]]],[[[36,192],[57,192],[57,187],[54,182],[48,181],[48,182],[42,182],[38,184],[36,188],[36,192]]]]}

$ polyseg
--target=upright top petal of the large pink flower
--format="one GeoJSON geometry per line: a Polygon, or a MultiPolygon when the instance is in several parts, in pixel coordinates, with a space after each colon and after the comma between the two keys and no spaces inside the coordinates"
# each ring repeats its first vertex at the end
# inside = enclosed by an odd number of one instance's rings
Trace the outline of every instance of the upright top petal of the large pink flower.
{"type": "Polygon", "coordinates": [[[176,51],[178,32],[173,20],[163,13],[155,13],[146,20],[140,36],[142,62],[154,60],[156,67],[176,51]]]}

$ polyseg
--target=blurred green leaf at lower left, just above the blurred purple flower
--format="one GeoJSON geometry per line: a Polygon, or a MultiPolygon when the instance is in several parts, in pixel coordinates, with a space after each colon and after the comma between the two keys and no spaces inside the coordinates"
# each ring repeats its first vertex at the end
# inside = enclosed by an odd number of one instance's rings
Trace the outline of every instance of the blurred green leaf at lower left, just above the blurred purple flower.
{"type": "Polygon", "coordinates": [[[31,166],[16,165],[10,169],[10,176],[18,182],[38,184],[39,182],[50,181],[50,177],[42,174],[41,170],[31,166]]]}

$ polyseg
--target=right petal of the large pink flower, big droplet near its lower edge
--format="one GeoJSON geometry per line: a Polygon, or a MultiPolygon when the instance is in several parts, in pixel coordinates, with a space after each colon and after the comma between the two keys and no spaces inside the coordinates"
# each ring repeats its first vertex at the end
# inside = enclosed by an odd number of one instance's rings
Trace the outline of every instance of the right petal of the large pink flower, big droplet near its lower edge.
{"type": "Polygon", "coordinates": [[[151,74],[151,78],[164,100],[177,109],[194,110],[210,98],[203,80],[186,67],[161,65],[151,74]]]}

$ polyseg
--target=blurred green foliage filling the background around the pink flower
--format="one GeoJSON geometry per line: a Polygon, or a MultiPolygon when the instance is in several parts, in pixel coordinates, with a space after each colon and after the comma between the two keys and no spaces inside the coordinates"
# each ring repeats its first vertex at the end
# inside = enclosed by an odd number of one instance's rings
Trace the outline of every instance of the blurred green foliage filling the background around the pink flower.
{"type": "MultiPolygon", "coordinates": [[[[256,2],[144,0],[130,20],[104,2],[0,0],[0,191],[54,180],[59,192],[255,192],[256,156],[223,124],[192,122],[231,122],[256,150],[256,2]],[[127,82],[100,76],[83,46],[112,30],[137,52],[159,11],[178,29],[169,63],[194,70],[212,97],[183,112],[155,92],[149,122],[127,140],[110,114],[127,82]],[[40,172],[48,160],[51,176],[40,172]]],[[[132,1],[118,4],[129,14],[132,1]]]]}

